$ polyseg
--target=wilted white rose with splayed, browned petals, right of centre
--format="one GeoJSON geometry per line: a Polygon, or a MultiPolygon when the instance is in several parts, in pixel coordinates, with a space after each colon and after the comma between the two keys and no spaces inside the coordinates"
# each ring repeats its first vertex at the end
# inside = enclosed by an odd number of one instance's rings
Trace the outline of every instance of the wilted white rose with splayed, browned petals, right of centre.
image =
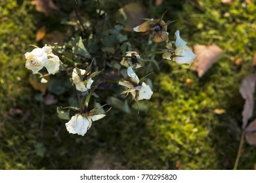
{"type": "Polygon", "coordinates": [[[131,95],[133,95],[133,99],[137,99],[138,97],[139,101],[142,99],[150,99],[153,94],[150,86],[148,86],[144,82],[142,82],[140,86],[139,85],[140,80],[131,67],[128,67],[127,75],[129,76],[129,79],[131,80],[131,82],[129,82],[129,80],[120,80],[118,83],[119,85],[125,86],[126,88],[128,88],[128,90],[122,93],[123,94],[131,93],[131,95]]]}

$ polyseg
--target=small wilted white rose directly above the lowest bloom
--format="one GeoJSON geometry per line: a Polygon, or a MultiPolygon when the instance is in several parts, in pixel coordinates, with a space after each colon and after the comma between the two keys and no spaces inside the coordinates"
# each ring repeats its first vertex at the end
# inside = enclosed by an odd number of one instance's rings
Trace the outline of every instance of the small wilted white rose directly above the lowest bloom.
{"type": "Polygon", "coordinates": [[[73,83],[75,84],[76,90],[80,92],[86,92],[87,90],[91,89],[93,80],[92,78],[83,80],[83,75],[85,75],[86,71],[83,69],[78,69],[78,71],[81,73],[81,75],[77,73],[77,68],[73,70],[73,73],[72,73],[73,83]]]}

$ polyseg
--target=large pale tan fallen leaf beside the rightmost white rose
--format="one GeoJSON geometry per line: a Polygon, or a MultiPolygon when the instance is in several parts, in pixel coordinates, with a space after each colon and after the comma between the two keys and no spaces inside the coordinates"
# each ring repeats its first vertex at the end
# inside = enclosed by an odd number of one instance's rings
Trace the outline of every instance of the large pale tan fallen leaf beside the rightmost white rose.
{"type": "Polygon", "coordinates": [[[198,76],[202,77],[213,63],[221,56],[223,50],[216,44],[205,46],[196,44],[194,46],[196,59],[194,60],[194,71],[198,71],[198,76]]]}

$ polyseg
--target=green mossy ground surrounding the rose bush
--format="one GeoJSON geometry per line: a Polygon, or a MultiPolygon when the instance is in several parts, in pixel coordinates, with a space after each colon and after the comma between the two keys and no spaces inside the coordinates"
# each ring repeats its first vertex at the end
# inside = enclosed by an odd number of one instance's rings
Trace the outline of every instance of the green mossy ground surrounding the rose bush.
{"type": "MultiPolygon", "coordinates": [[[[189,46],[215,42],[224,54],[202,78],[160,56],[147,110],[124,114],[113,108],[85,137],[68,134],[55,105],[35,101],[23,54],[35,42],[41,15],[30,1],[10,2],[0,3],[0,169],[232,169],[244,105],[238,89],[253,73],[256,52],[255,1],[145,4],[152,16],[172,10],[166,19],[179,22],[170,29],[180,29],[189,46]],[[236,65],[231,57],[243,61],[236,65]],[[12,116],[10,108],[23,113],[12,116]],[[215,114],[217,108],[226,112],[215,114]]],[[[255,159],[255,146],[245,144],[238,169],[255,169],[255,159]]]]}

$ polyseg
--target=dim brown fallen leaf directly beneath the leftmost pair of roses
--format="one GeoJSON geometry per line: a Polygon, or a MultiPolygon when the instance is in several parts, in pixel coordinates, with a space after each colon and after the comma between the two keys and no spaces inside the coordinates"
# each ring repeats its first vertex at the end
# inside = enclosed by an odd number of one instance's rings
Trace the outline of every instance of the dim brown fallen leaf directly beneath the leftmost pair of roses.
{"type": "MultiPolygon", "coordinates": [[[[47,74],[47,73],[42,73],[42,75],[47,74]]],[[[47,75],[45,77],[46,80],[50,80],[50,76],[47,75]]],[[[39,78],[39,75],[31,75],[29,82],[32,85],[33,89],[38,90],[40,92],[42,92],[43,94],[45,94],[47,87],[48,87],[48,82],[47,83],[41,83],[41,78],[39,78]]]]}

